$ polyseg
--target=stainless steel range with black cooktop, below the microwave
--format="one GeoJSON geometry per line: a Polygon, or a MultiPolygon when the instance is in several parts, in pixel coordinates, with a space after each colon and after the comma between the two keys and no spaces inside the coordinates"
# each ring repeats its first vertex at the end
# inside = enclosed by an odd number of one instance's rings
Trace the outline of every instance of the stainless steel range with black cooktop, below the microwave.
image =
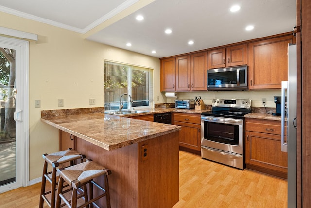
{"type": "Polygon", "coordinates": [[[201,114],[201,156],[244,169],[244,115],[251,100],[213,99],[212,111],[201,114]]]}

